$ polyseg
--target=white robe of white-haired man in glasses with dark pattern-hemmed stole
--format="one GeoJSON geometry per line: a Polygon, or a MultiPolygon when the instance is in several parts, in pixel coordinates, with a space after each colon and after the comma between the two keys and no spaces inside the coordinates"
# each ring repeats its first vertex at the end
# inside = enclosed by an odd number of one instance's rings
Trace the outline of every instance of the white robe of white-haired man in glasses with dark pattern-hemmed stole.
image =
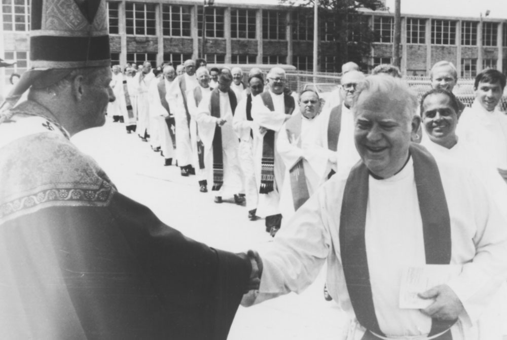
{"type": "MultiPolygon", "coordinates": [[[[267,129],[274,131],[274,140],[278,138],[281,127],[285,121],[285,104],[283,94],[269,93],[273,100],[274,111],[271,111],[264,105],[264,101],[260,95],[252,99],[251,115],[253,121],[258,126],[263,126],[267,129]]],[[[263,140],[266,132],[261,133],[258,128],[252,129],[253,133],[253,159],[255,162],[256,181],[261,183],[262,175],[262,158],[263,158],[263,140]]],[[[285,173],[285,165],[281,159],[276,143],[274,144],[274,190],[267,194],[259,194],[259,203],[257,206],[257,216],[266,217],[280,214],[280,192],[282,190],[283,177],[285,173]]]]}

